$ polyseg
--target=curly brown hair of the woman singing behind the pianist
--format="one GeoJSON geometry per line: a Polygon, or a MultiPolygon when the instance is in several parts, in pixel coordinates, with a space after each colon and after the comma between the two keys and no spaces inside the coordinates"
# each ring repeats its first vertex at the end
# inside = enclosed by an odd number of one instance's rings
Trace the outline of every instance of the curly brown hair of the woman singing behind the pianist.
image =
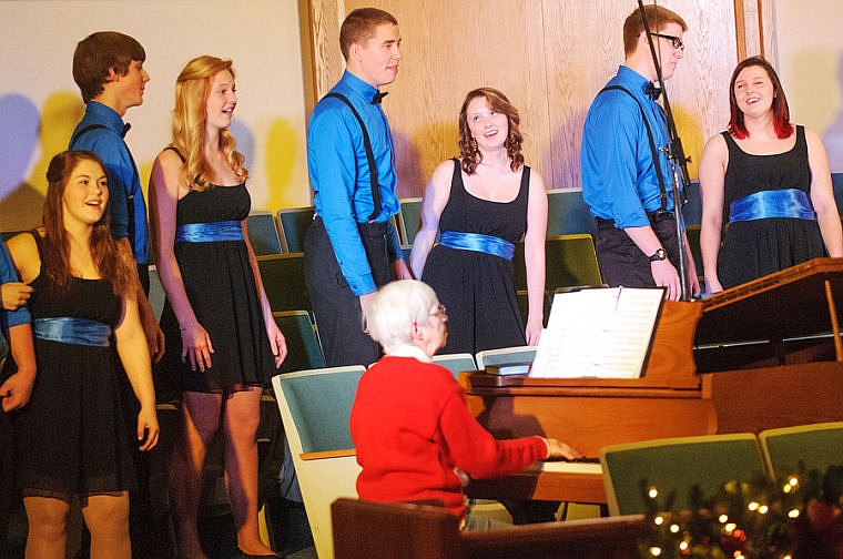
{"type": "Polygon", "coordinates": [[[507,155],[509,155],[509,166],[512,171],[518,171],[524,165],[524,154],[521,153],[521,143],[524,136],[518,125],[521,118],[518,115],[518,109],[509,102],[507,96],[495,88],[478,88],[471,90],[463,102],[459,110],[459,160],[463,171],[466,174],[474,174],[477,165],[483,161],[483,153],[477,149],[477,141],[471,136],[471,130],[468,128],[468,104],[477,98],[485,98],[492,111],[506,114],[509,124],[509,133],[505,141],[507,155]]]}

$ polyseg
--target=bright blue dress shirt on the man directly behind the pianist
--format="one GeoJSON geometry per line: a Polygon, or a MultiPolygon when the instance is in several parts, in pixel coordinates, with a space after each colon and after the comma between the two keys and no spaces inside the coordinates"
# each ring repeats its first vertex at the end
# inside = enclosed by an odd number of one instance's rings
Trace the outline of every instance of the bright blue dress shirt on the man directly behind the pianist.
{"type": "MultiPolygon", "coordinates": [[[[331,91],[345,95],[366,124],[382,199],[380,214],[374,221],[388,222],[398,213],[399,204],[389,123],[380,105],[372,104],[377,89],[346,71],[331,91]]],[[[316,215],[325,223],[348,286],[355,295],[372,293],[375,281],[357,230],[374,210],[369,167],[360,124],[339,99],[323,99],[313,110],[307,129],[307,169],[316,215]]],[[[398,233],[392,223],[387,235],[389,260],[402,260],[398,233]]]]}

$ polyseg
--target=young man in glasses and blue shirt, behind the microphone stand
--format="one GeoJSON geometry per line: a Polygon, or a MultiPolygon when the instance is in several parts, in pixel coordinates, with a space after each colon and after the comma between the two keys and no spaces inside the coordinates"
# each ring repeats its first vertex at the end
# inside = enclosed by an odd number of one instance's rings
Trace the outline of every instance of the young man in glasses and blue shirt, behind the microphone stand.
{"type": "MultiPolygon", "coordinates": [[[[644,13],[667,81],[684,55],[682,34],[688,26],[660,6],[647,6],[644,13]]],[[[623,64],[598,93],[586,118],[582,197],[597,220],[597,257],[606,283],[666,287],[666,296],[678,301],[681,282],[672,172],[659,150],[670,143],[670,136],[664,112],[656,102],[661,91],[639,10],[623,23],[623,64]]],[[[685,262],[691,293],[699,294],[690,251],[685,262]]]]}

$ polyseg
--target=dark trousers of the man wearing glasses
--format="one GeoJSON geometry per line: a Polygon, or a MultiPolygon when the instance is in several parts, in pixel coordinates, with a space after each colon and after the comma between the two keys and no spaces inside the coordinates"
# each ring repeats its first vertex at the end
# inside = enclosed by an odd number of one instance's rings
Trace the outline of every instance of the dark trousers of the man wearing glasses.
{"type": "MultiPolygon", "coordinates": [[[[679,241],[673,214],[656,212],[649,217],[670,263],[679,270],[679,241]]],[[[623,230],[617,228],[615,221],[597,218],[596,248],[603,282],[610,287],[656,287],[648,258],[650,255],[642,253],[623,230]]]]}

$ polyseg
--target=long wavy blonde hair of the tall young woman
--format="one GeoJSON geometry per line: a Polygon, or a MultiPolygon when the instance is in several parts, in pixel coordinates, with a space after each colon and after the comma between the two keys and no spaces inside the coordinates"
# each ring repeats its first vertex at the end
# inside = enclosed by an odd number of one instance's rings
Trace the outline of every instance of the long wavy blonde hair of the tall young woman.
{"type": "MultiPolygon", "coordinates": [[[[175,106],[173,109],[173,143],[184,156],[182,181],[190,190],[204,191],[212,186],[210,165],[203,154],[207,96],[214,77],[227,70],[234,75],[231,60],[216,57],[197,57],[187,62],[175,79],[175,106]]],[[[241,181],[248,177],[243,165],[243,154],[235,150],[236,142],[227,130],[220,132],[220,148],[234,173],[241,181]]]]}

